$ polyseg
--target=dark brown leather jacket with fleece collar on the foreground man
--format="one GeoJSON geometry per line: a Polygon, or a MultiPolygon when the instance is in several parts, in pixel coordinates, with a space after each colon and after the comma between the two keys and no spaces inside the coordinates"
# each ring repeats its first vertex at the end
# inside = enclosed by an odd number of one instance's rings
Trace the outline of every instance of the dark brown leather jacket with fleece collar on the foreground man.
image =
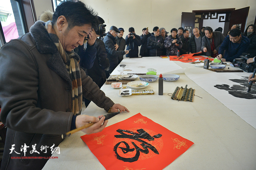
{"type": "MultiPolygon", "coordinates": [[[[48,159],[11,157],[49,157],[50,147],[57,147],[60,135],[70,131],[72,83],[67,69],[44,23],[37,21],[30,32],[0,49],[1,121],[8,127],[1,169],[42,169],[48,159]],[[24,144],[29,146],[26,155],[20,151],[24,144]],[[33,152],[35,144],[39,154],[33,152]],[[48,146],[47,153],[41,146],[48,146]]],[[[114,105],[82,69],[81,77],[85,98],[106,111],[114,105]]]]}

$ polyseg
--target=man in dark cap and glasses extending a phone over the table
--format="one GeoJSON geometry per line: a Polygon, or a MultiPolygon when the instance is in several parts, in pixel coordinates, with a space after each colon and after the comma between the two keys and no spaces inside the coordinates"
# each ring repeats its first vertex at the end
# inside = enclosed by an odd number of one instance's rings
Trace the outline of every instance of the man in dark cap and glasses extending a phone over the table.
{"type": "Polygon", "coordinates": [[[120,31],[116,28],[116,26],[111,26],[109,32],[105,36],[103,42],[105,44],[106,52],[108,54],[107,58],[109,60],[109,70],[106,71],[106,77],[108,78],[112,71],[118,65],[118,56],[128,54],[129,51],[116,51],[116,35],[120,33],[120,31]]]}

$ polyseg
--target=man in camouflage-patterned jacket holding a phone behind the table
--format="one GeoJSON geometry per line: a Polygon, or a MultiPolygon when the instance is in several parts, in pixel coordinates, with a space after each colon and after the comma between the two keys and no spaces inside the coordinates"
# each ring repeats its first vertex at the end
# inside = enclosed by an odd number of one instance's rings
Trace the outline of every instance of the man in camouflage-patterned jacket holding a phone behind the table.
{"type": "Polygon", "coordinates": [[[177,35],[178,30],[172,28],[171,35],[164,39],[164,48],[166,48],[166,55],[177,55],[178,50],[182,48],[182,42],[177,35]]]}

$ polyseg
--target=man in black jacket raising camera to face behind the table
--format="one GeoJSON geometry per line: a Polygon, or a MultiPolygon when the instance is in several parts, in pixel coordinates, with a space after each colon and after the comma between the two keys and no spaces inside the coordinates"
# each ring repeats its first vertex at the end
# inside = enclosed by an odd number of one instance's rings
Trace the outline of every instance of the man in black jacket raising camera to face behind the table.
{"type": "Polygon", "coordinates": [[[125,37],[126,50],[130,50],[126,57],[139,57],[140,36],[135,34],[134,28],[129,28],[129,34],[125,37]]]}

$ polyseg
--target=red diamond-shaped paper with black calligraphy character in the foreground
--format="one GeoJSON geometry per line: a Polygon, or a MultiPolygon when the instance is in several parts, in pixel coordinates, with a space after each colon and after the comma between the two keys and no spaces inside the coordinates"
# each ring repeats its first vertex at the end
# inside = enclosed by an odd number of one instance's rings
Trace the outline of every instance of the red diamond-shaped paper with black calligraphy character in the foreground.
{"type": "Polygon", "coordinates": [[[163,169],[194,144],[140,113],[81,138],[107,170],[163,169]]]}

